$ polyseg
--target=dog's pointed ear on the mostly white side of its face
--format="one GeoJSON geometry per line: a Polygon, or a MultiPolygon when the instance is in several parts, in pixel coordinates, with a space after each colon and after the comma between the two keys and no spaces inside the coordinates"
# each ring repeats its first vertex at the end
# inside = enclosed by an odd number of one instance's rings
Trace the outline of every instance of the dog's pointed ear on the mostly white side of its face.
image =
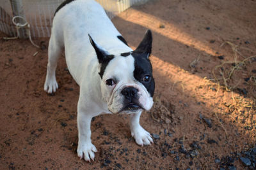
{"type": "Polygon", "coordinates": [[[104,50],[104,48],[101,48],[95,41],[93,41],[92,37],[90,36],[90,34],[88,34],[89,36],[89,39],[90,39],[90,43],[92,44],[96,54],[97,54],[97,57],[98,57],[98,60],[99,60],[99,63],[102,64],[104,61],[106,60],[109,60],[109,54],[106,50],[104,50]]]}

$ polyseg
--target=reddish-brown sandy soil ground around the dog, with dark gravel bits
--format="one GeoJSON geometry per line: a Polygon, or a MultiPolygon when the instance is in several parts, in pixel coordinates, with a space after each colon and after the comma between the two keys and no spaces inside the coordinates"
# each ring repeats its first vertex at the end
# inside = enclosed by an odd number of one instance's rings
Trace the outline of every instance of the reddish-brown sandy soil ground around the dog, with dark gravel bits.
{"type": "Polygon", "coordinates": [[[47,95],[49,39],[36,39],[38,50],[1,38],[0,169],[255,168],[255,9],[249,0],[159,0],[113,18],[133,48],[153,32],[155,103],[140,122],[154,145],[136,145],[127,116],[102,115],[92,122],[91,163],[76,155],[79,87],[65,58],[60,89],[47,95]]]}

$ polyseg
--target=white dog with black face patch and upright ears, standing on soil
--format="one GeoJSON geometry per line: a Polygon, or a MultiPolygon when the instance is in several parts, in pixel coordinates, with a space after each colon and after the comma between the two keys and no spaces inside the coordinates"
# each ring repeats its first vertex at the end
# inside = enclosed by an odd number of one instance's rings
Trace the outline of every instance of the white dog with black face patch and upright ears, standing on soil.
{"type": "Polygon", "coordinates": [[[150,145],[152,136],[140,125],[143,110],[153,105],[155,82],[148,57],[152,32],[136,50],[116,30],[102,6],[93,0],[68,0],[56,10],[49,40],[44,90],[56,92],[57,60],[65,48],[70,74],[80,87],[77,103],[80,159],[94,160],[91,120],[102,113],[129,114],[131,136],[138,145],[150,145]]]}

